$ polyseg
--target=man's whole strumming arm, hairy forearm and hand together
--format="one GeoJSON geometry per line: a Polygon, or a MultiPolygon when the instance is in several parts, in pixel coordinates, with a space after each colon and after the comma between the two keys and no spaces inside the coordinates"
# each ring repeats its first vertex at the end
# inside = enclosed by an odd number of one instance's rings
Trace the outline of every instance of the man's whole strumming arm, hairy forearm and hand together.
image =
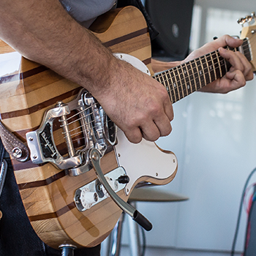
{"type": "Polygon", "coordinates": [[[89,90],[131,142],[170,133],[173,109],[164,86],[116,59],[59,0],[0,1],[0,38],[89,90]]]}

